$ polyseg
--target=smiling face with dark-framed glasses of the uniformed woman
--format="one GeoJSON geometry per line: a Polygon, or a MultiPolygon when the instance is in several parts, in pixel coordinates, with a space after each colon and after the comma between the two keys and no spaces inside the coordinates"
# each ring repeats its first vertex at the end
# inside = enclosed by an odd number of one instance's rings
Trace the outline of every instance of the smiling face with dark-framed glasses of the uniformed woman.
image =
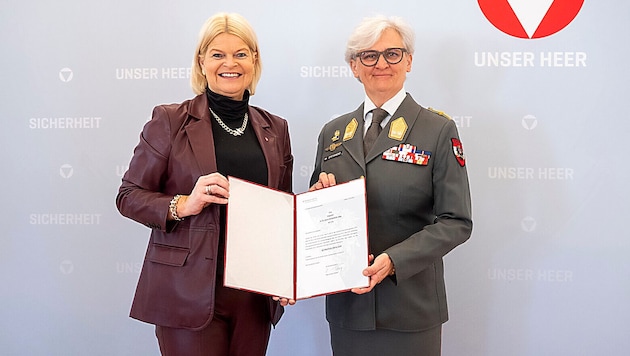
{"type": "MultiPolygon", "coordinates": [[[[387,48],[405,48],[400,34],[391,28],[383,31],[373,46],[361,51],[384,51],[387,48]]],[[[376,65],[368,67],[359,58],[354,58],[350,60],[350,68],[354,76],[363,83],[367,96],[380,107],[403,88],[407,73],[411,71],[411,61],[412,56],[408,53],[396,64],[389,64],[383,56],[379,56],[376,65]]]]}

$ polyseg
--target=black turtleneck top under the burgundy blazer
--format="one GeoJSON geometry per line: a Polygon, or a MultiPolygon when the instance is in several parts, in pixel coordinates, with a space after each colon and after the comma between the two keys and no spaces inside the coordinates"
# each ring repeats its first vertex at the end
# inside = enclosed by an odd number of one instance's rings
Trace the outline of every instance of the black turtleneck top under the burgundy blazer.
{"type": "MultiPolygon", "coordinates": [[[[249,113],[249,91],[245,91],[243,100],[233,100],[206,89],[206,96],[210,108],[229,128],[237,129],[243,124],[245,114],[249,113]]],[[[245,132],[240,136],[233,136],[223,129],[212,113],[212,136],[216,152],[217,170],[224,176],[246,179],[262,185],[267,185],[267,163],[262,148],[252,128],[251,120],[247,123],[245,132]]],[[[247,223],[243,221],[243,223],[247,223]]],[[[225,248],[225,205],[220,206],[220,239],[219,261],[217,273],[223,274],[223,249],[225,248]]]]}

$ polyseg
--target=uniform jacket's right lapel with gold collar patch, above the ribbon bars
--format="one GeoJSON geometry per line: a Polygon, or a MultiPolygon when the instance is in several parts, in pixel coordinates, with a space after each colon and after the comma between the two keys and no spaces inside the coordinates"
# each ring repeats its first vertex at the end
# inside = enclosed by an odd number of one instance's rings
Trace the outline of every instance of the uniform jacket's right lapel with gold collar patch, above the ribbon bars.
{"type": "Polygon", "coordinates": [[[411,95],[407,93],[405,100],[403,100],[403,102],[400,104],[398,109],[396,109],[396,112],[392,114],[391,119],[389,120],[387,125],[385,125],[385,127],[383,128],[383,131],[376,139],[376,142],[374,142],[374,146],[372,147],[372,150],[365,157],[365,162],[366,163],[370,162],[374,158],[380,157],[383,154],[383,152],[385,152],[386,150],[394,146],[398,146],[401,143],[404,143],[407,137],[409,136],[409,132],[411,131],[411,128],[415,124],[419,113],[420,113],[420,105],[418,105],[413,100],[411,95]],[[402,136],[400,140],[390,135],[392,122],[394,122],[395,120],[398,120],[399,118],[402,118],[402,120],[404,120],[405,124],[407,125],[404,135],[402,136]]]}

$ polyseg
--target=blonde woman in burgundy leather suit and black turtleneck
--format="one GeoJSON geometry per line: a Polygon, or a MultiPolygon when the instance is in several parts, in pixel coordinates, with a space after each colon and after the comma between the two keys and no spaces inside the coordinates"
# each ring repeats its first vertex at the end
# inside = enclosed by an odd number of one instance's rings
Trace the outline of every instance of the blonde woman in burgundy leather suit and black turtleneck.
{"type": "Polygon", "coordinates": [[[197,96],[154,108],[122,179],[120,213],[152,229],[131,317],[156,326],[163,355],[263,356],[288,302],[222,284],[226,177],[292,191],[287,122],[249,105],[261,69],[242,16],[208,19],[192,66],[197,96]]]}

